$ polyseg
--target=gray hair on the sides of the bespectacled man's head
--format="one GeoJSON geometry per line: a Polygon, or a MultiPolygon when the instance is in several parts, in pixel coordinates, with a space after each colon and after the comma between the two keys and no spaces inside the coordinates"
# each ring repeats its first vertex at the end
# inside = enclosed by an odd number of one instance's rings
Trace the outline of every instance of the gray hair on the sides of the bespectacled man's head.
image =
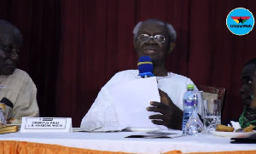
{"type": "MultiPolygon", "coordinates": [[[[158,21],[160,21],[160,20],[158,20],[158,21]]],[[[160,21],[160,22],[163,22],[163,21],[160,21]]],[[[173,28],[173,26],[171,24],[168,24],[166,22],[163,22],[163,23],[167,27],[167,34],[170,37],[170,42],[174,43],[176,41],[176,37],[177,37],[176,31],[174,30],[174,28],[173,28]]],[[[143,24],[143,21],[140,21],[134,27],[134,29],[132,31],[132,33],[133,33],[133,40],[136,40],[138,31],[140,30],[140,27],[142,26],[142,24],[143,24]]]]}

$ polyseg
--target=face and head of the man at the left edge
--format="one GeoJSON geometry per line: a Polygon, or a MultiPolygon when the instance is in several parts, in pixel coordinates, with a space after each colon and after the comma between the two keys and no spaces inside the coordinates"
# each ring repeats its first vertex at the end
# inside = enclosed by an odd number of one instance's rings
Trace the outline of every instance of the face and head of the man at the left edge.
{"type": "Polygon", "coordinates": [[[0,28],[0,75],[11,75],[19,61],[22,38],[6,28],[0,28]]]}

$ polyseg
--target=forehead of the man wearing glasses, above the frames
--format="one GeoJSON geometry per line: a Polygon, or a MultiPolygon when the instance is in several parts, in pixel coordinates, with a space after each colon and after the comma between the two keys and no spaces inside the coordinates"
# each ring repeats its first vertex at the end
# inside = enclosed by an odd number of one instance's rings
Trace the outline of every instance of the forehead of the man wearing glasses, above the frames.
{"type": "Polygon", "coordinates": [[[167,33],[166,25],[163,22],[157,20],[144,21],[142,26],[140,26],[139,32],[167,33]]]}

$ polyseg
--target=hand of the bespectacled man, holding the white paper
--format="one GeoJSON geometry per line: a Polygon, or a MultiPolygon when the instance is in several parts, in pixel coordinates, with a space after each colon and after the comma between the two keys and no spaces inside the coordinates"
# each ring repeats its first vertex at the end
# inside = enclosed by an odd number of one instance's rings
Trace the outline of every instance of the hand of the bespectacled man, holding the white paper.
{"type": "Polygon", "coordinates": [[[181,129],[183,122],[183,111],[172,103],[172,100],[164,91],[159,89],[160,102],[151,101],[147,110],[158,112],[159,114],[149,116],[152,123],[164,125],[167,128],[181,129]]]}

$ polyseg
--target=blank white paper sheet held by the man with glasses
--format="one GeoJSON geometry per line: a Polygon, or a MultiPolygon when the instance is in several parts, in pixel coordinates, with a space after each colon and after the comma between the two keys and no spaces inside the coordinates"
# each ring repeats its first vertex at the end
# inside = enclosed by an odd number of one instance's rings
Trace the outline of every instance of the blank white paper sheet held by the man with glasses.
{"type": "MultiPolygon", "coordinates": [[[[148,119],[149,116],[155,115],[155,112],[145,109],[150,101],[160,102],[156,77],[114,84],[110,94],[119,118],[119,125],[130,128],[155,128],[154,123],[148,119]]],[[[165,126],[162,127],[166,129],[165,126]]]]}

